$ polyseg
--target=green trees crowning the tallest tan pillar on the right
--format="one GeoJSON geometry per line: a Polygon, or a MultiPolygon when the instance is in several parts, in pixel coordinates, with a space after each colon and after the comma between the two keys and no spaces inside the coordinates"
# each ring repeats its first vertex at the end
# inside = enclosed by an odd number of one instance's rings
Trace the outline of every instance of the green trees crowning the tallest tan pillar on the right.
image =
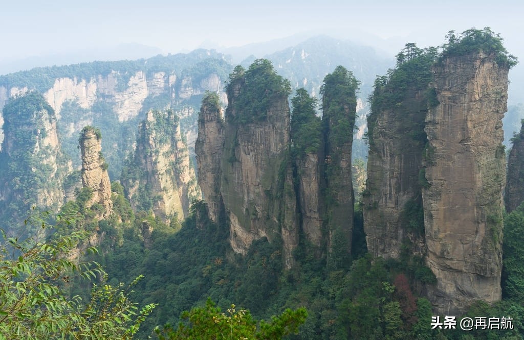
{"type": "Polygon", "coordinates": [[[460,35],[455,31],[449,31],[446,35],[447,42],[442,45],[442,54],[439,61],[443,61],[450,56],[461,56],[471,53],[483,52],[494,54],[495,61],[501,67],[511,67],[517,65],[517,58],[508,53],[503,45],[504,39],[500,38],[499,33],[493,32],[489,27],[483,29],[468,29],[460,35]]]}

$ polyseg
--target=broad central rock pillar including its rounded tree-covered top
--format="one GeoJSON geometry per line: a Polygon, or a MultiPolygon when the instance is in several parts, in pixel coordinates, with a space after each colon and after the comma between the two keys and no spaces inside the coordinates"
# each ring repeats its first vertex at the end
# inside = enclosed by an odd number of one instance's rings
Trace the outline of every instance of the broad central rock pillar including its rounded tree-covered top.
{"type": "MultiPolygon", "coordinates": [[[[238,71],[238,70],[237,70],[238,71]]],[[[287,85],[289,86],[289,84],[287,85]]],[[[290,111],[285,81],[277,76],[268,61],[258,61],[245,73],[233,76],[227,88],[228,107],[221,191],[230,220],[230,242],[237,253],[246,254],[254,240],[275,240],[285,221],[280,220],[282,188],[288,176],[290,111]],[[256,84],[257,78],[268,82],[256,84]],[[261,92],[260,94],[257,92],[261,92]],[[282,174],[282,175],[280,175],[282,174]]],[[[294,196],[294,192],[288,192],[294,196]]],[[[293,224],[286,225],[289,230],[293,224]]],[[[296,232],[287,232],[292,251],[296,232]]],[[[290,251],[290,252],[291,252],[290,251]]]]}

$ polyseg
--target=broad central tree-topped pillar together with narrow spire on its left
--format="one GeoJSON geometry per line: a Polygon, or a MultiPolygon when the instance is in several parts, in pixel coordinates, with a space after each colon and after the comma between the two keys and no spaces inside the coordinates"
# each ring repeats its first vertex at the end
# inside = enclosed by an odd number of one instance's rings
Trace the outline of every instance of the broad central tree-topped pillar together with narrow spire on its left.
{"type": "Polygon", "coordinates": [[[214,221],[224,214],[230,243],[246,254],[253,241],[282,240],[286,268],[298,245],[297,199],[289,158],[289,85],[258,60],[235,69],[225,121],[219,97],[204,97],[195,145],[199,183],[214,221]],[[267,87],[254,80],[267,81],[267,87]],[[252,100],[252,98],[255,98],[252,100]]]}

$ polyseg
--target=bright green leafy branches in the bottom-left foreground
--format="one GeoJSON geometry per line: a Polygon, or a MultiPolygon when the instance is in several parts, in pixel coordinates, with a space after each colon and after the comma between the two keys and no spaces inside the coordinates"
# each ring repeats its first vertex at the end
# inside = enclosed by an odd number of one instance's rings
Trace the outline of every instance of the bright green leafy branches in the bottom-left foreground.
{"type": "MultiPolygon", "coordinates": [[[[26,226],[31,223],[42,234],[50,229],[38,216],[26,220],[26,226]]],[[[71,221],[58,216],[58,223],[71,221]]],[[[39,236],[20,241],[2,230],[0,338],[131,338],[155,305],[138,310],[122,285],[93,286],[87,304],[79,296],[70,298],[65,287],[74,277],[100,280],[105,273],[95,262],[76,262],[68,257],[88,234],[55,236],[48,241],[39,236]]],[[[94,248],[87,250],[96,252],[94,248]]]]}

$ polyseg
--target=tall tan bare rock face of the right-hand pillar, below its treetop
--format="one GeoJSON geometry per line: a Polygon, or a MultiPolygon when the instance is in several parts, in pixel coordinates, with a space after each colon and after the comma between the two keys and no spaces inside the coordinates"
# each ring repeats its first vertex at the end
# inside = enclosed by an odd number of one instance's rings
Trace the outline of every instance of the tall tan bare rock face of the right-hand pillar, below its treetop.
{"type": "Polygon", "coordinates": [[[477,52],[443,58],[434,76],[440,104],[426,120],[422,189],[427,264],[437,279],[428,295],[437,312],[454,315],[501,298],[508,68],[477,52]]]}

